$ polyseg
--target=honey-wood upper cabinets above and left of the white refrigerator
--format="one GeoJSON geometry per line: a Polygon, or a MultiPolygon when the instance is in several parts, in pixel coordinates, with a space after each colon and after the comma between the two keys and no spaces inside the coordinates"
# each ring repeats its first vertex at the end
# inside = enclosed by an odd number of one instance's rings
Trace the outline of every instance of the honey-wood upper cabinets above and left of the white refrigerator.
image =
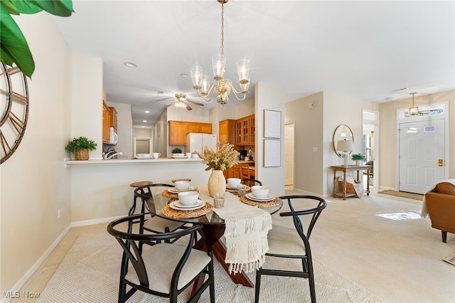
{"type": "Polygon", "coordinates": [[[211,134],[212,124],[203,122],[169,121],[169,145],[186,145],[186,134],[211,134]]]}

